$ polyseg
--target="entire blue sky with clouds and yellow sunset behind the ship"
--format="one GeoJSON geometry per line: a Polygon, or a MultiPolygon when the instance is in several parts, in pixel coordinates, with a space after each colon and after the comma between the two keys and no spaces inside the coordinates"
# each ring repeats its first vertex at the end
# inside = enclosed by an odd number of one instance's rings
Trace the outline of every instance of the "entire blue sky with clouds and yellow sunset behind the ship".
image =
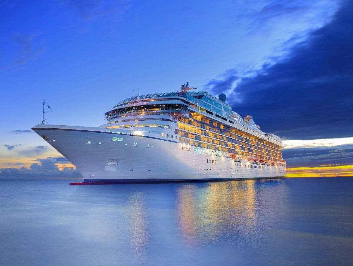
{"type": "Polygon", "coordinates": [[[353,3],[0,0],[0,178],[80,177],[31,127],[99,126],[190,82],[279,135],[288,177],[353,176],[353,3]]]}

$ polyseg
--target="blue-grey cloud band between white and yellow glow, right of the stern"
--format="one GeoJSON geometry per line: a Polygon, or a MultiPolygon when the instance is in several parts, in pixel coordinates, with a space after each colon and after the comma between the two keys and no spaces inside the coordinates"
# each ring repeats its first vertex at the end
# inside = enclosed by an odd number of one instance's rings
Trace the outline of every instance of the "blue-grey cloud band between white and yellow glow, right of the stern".
{"type": "Polygon", "coordinates": [[[317,167],[323,164],[353,165],[353,145],[283,149],[282,155],[288,168],[317,167]]]}

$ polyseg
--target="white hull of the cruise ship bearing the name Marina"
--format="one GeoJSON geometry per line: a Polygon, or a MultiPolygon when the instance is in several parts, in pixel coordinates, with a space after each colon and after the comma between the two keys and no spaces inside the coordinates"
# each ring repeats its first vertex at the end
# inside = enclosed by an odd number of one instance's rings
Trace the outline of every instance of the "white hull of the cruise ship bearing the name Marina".
{"type": "Polygon", "coordinates": [[[106,128],[58,125],[37,125],[33,130],[70,160],[85,181],[192,181],[286,175],[286,168],[279,165],[255,168],[246,160],[234,162],[222,156],[197,154],[195,147],[163,139],[159,133],[138,136],[132,130],[121,129],[117,134],[106,128]]]}

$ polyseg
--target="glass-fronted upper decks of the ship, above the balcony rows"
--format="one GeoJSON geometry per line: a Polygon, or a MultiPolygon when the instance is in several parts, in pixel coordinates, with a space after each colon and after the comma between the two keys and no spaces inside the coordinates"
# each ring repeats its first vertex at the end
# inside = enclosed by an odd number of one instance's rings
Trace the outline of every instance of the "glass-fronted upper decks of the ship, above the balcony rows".
{"type": "Polygon", "coordinates": [[[256,135],[283,147],[280,137],[261,131],[252,116],[246,116],[243,119],[232,110],[230,105],[207,91],[154,93],[129,97],[121,100],[105,113],[105,116],[107,120],[112,120],[127,114],[161,115],[169,113],[175,115],[179,113],[187,116],[188,112],[198,112],[228,126],[243,130],[247,134],[256,135]]]}

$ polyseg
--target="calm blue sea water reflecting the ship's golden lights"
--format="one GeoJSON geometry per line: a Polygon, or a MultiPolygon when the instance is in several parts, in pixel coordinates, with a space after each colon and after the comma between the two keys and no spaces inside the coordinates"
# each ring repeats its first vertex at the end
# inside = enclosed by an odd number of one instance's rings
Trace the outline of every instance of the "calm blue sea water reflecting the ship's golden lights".
{"type": "Polygon", "coordinates": [[[0,180],[0,265],[352,265],[353,178],[0,180]]]}

